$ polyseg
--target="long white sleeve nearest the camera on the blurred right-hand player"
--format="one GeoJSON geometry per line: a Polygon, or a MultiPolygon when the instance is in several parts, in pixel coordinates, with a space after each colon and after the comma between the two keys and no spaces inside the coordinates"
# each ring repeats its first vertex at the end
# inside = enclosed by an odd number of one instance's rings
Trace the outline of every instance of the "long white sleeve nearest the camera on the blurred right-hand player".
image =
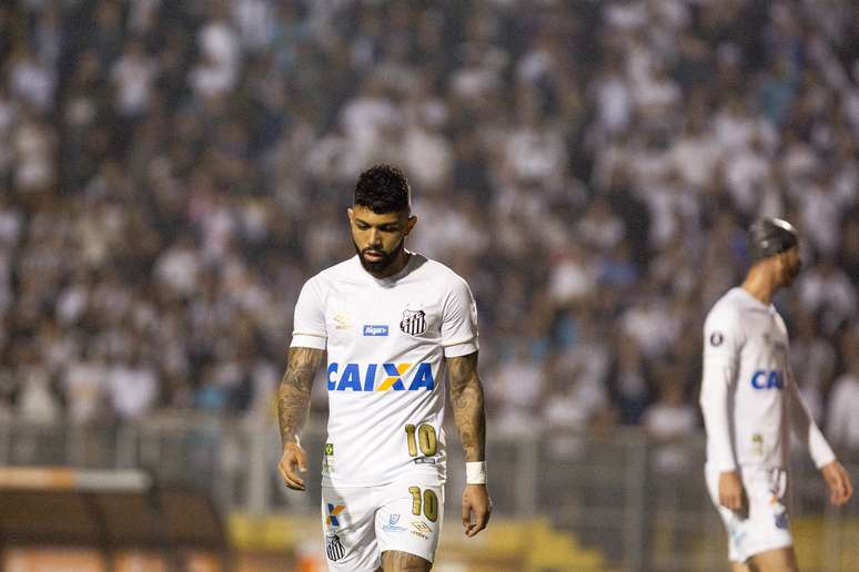
{"type": "Polygon", "coordinates": [[[715,308],[704,325],[704,368],[700,406],[710,458],[719,472],[737,468],[731,445],[728,401],[735,389],[742,330],[735,313],[715,308]]]}

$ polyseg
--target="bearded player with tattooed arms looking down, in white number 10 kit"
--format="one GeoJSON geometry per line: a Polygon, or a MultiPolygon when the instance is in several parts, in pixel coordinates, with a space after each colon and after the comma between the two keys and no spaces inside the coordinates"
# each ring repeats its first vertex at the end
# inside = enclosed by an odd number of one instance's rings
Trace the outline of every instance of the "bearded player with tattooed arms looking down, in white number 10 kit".
{"type": "Polygon", "coordinates": [[[327,354],[322,527],[333,571],[432,568],[444,512],[445,382],[465,449],[465,533],[483,530],[492,510],[476,306],[453,270],[405,249],[417,221],[410,195],[395,167],[362,173],[348,210],[356,256],[307,280],[295,307],[279,469],[289,488],[305,489],[299,436],[327,354]]]}

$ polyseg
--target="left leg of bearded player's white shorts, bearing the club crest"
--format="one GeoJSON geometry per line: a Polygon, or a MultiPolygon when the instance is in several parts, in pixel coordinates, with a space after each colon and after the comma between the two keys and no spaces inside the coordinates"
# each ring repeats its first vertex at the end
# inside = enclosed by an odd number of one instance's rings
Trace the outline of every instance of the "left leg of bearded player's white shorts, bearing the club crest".
{"type": "Polygon", "coordinates": [[[375,491],[370,487],[322,488],[325,556],[334,572],[370,572],[378,565],[375,491]]]}

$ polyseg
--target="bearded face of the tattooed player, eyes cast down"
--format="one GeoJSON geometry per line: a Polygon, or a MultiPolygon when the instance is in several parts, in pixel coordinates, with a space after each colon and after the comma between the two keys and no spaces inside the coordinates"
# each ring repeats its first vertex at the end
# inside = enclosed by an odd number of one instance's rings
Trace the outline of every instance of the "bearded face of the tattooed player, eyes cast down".
{"type": "Polygon", "coordinates": [[[352,242],[361,265],[377,277],[396,274],[405,264],[405,237],[417,218],[407,211],[374,213],[366,206],[348,210],[352,242]]]}

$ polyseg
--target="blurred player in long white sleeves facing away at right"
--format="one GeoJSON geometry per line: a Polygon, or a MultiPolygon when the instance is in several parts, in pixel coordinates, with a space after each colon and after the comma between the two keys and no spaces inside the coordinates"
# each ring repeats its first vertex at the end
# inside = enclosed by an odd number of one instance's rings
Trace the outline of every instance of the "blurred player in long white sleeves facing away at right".
{"type": "Polygon", "coordinates": [[[734,572],[795,571],[785,505],[789,427],[808,446],[833,504],[850,500],[852,484],[800,397],[787,328],[771,304],[799,273],[796,231],[761,218],[750,226],[748,245],[746,279],[716,303],[704,326],[705,473],[728,531],[734,572]]]}

